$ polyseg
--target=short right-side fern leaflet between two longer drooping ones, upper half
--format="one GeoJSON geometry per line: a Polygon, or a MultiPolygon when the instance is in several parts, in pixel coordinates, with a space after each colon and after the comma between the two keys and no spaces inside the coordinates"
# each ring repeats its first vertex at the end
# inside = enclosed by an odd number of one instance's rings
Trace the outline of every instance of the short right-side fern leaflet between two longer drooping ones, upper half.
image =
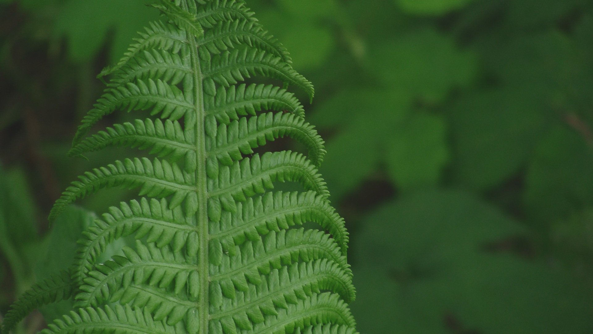
{"type": "Polygon", "coordinates": [[[204,97],[207,114],[216,116],[222,123],[239,116],[256,115],[256,111],[273,110],[291,112],[304,117],[305,112],[294,94],[272,85],[239,84],[225,89],[220,87],[215,96],[204,97]]]}

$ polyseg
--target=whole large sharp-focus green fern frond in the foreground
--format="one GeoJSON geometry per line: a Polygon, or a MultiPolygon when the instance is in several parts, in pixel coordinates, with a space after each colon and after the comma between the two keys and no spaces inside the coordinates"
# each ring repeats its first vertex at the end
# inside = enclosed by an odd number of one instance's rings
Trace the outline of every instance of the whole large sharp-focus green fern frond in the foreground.
{"type": "Polygon", "coordinates": [[[353,334],[348,236],[317,166],[323,140],[304,121],[288,86],[313,86],[280,43],[235,0],[161,0],[113,67],[107,89],[82,120],[69,152],[109,146],[149,150],[72,183],[49,219],[101,188],[139,188],[110,207],[79,240],[75,265],[37,283],[7,314],[8,332],[30,310],[74,298],[75,310],[43,333],[353,334]],[[272,78],[285,88],[243,83],[272,78]],[[86,136],[115,111],[154,118],[86,136]],[[307,157],[253,149],[289,136],[307,157]],[[247,156],[248,157],[247,157],[247,156]],[[301,192],[272,191],[298,182],[301,192]],[[318,229],[299,228],[313,222],[318,229]],[[107,245],[135,247],[97,263],[107,245]]]}

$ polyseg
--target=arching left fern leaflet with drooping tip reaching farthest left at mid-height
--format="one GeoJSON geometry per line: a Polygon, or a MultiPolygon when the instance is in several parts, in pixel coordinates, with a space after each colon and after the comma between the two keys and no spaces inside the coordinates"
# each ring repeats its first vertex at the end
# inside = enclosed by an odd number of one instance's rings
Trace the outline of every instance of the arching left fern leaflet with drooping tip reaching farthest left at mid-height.
{"type": "Polygon", "coordinates": [[[49,214],[49,220],[53,221],[68,204],[73,203],[77,198],[82,198],[89,193],[94,193],[101,188],[137,188],[142,187],[139,195],[148,197],[167,197],[173,195],[169,206],[179,206],[182,202],[186,204],[186,214],[191,215],[196,210],[195,175],[181,171],[177,163],[169,163],[167,160],[155,158],[134,158],[117,160],[113,165],[95,168],[92,172],[86,172],[78,177],[80,181],[72,182],[66,188],[62,196],[56,200],[56,204],[49,214]]]}

